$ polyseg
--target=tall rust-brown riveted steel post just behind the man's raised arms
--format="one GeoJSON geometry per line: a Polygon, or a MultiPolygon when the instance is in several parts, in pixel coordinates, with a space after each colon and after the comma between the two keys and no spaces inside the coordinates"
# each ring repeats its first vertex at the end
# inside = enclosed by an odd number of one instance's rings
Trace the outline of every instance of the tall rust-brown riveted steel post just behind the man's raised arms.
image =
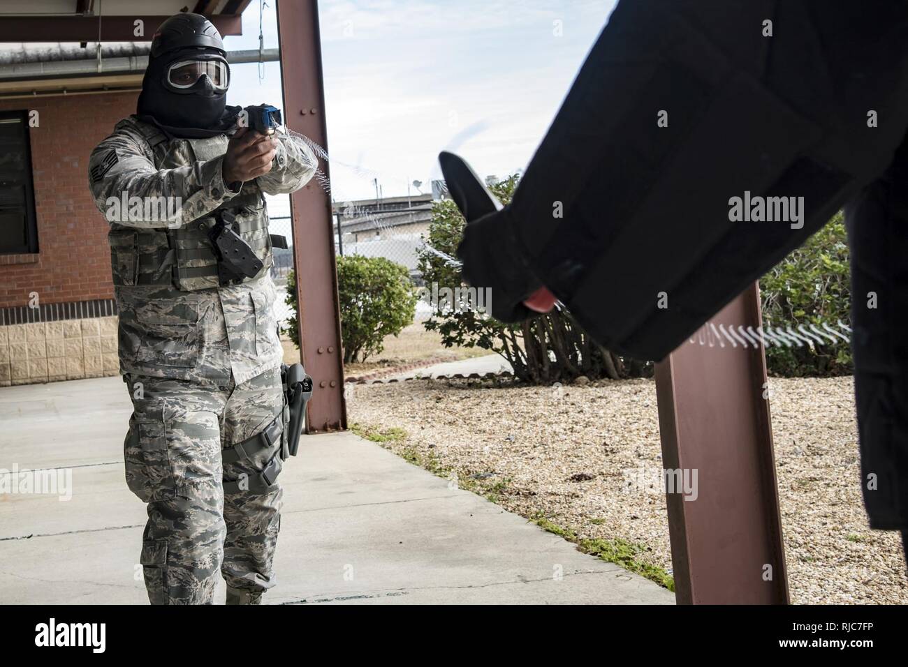
{"type": "MultiPolygon", "coordinates": [[[[318,4],[279,0],[277,14],[284,122],[327,150],[318,4]]],[[[329,175],[327,163],[321,169],[329,175]]],[[[346,428],[331,199],[316,181],[291,195],[291,219],[301,357],[315,382],[306,429],[346,428]]]]}

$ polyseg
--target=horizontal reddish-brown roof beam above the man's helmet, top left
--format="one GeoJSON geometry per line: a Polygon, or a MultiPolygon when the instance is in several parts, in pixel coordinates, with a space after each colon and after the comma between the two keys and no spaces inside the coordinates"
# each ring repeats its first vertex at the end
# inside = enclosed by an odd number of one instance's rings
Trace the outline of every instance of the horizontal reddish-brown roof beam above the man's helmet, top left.
{"type": "MultiPolygon", "coordinates": [[[[0,42],[151,42],[168,16],[13,16],[0,15],[0,42]],[[136,36],[135,21],[144,24],[136,36]],[[99,36],[100,35],[100,36],[99,36]]],[[[209,16],[222,35],[242,34],[239,15],[209,16]]]]}

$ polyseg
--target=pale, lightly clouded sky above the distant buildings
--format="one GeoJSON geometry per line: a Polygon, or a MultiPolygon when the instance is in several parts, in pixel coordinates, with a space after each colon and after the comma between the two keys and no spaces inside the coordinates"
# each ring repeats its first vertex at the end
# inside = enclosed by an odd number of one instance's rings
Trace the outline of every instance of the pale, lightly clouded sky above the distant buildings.
{"type": "MultiPolygon", "coordinates": [[[[321,0],[321,45],[335,201],[440,178],[440,150],[481,175],[523,169],[615,0],[321,0]]],[[[278,45],[266,2],[265,48],[278,45]]],[[[258,48],[259,3],[229,50],[258,48]]],[[[278,64],[232,66],[232,104],[282,107],[278,64]]],[[[415,189],[413,190],[416,193],[415,189]]],[[[272,214],[276,212],[272,211],[272,214]]]]}

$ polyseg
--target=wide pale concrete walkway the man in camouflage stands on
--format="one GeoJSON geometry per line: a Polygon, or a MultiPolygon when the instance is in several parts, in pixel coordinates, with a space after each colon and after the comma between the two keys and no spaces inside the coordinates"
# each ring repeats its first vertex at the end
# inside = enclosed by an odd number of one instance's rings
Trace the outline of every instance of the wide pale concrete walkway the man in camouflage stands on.
{"type": "MultiPolygon", "coordinates": [[[[130,409],[119,378],[0,388],[0,468],[73,480],[68,501],[0,495],[0,603],[147,603],[145,510],[123,480],[130,409]]],[[[304,436],[281,482],[267,603],[674,602],[349,433],[304,436]]]]}

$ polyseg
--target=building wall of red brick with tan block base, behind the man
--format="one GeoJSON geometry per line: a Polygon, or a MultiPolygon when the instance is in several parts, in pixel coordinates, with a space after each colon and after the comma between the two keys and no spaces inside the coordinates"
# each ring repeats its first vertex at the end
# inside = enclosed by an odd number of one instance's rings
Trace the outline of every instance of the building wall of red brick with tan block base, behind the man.
{"type": "Polygon", "coordinates": [[[88,157],[136,96],[0,100],[2,111],[38,112],[29,129],[38,252],[0,254],[0,387],[119,370],[108,225],[88,191],[88,157]]]}

